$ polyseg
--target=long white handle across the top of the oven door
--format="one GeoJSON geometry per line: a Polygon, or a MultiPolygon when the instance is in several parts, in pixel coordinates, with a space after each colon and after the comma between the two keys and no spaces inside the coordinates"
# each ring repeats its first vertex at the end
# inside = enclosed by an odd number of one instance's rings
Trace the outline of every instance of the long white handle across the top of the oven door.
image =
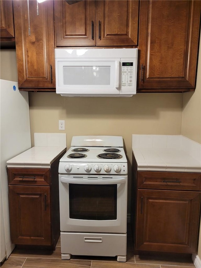
{"type": "Polygon", "coordinates": [[[70,179],[61,177],[62,183],[72,183],[72,184],[121,184],[126,183],[125,178],[121,179],[70,179]]]}

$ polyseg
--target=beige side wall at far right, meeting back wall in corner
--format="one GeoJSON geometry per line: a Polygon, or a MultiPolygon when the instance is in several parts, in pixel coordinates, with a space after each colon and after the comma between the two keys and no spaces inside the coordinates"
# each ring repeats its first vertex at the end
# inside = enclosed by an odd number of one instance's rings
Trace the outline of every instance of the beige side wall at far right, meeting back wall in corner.
{"type": "MultiPolygon", "coordinates": [[[[201,39],[198,56],[198,73],[195,92],[183,94],[181,134],[201,143],[201,39]]],[[[200,219],[201,220],[201,219],[200,219]]],[[[201,260],[201,225],[199,232],[198,256],[201,260]]]]}

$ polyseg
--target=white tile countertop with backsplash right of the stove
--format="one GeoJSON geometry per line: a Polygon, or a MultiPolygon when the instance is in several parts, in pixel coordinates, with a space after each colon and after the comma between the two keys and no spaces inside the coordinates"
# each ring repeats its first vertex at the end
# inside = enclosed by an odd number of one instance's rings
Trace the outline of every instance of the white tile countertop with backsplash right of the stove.
{"type": "Polygon", "coordinates": [[[201,144],[182,135],[132,135],[139,171],[201,172],[201,144]]]}

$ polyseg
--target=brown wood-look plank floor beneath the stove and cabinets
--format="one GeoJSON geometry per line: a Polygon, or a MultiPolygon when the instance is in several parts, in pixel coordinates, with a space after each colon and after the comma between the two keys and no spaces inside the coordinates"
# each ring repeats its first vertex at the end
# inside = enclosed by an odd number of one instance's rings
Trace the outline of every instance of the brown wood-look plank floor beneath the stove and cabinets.
{"type": "Polygon", "coordinates": [[[14,249],[2,268],[192,268],[190,257],[165,258],[133,254],[131,232],[128,227],[127,262],[117,262],[116,257],[71,256],[61,259],[60,239],[55,251],[14,249]]]}

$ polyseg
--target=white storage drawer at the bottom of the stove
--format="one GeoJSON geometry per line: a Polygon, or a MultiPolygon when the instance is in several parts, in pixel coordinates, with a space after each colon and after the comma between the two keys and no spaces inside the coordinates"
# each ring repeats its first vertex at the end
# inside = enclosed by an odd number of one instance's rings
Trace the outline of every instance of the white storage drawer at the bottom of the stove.
{"type": "Polygon", "coordinates": [[[126,234],[61,232],[61,253],[88,256],[126,256],[126,234]]]}

